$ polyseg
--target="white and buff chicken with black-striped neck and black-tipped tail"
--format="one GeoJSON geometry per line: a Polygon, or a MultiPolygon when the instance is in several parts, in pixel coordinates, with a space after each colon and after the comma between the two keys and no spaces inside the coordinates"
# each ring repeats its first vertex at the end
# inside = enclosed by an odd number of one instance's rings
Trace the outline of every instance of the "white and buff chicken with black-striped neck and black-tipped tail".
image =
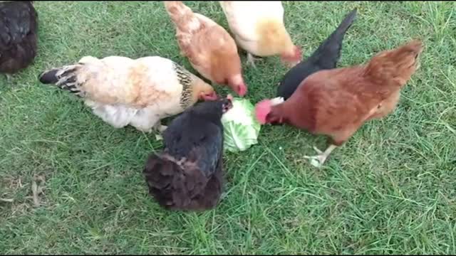
{"type": "Polygon", "coordinates": [[[86,56],[38,79],[82,97],[93,114],[113,127],[130,124],[142,132],[162,132],[166,127],[160,119],[183,112],[197,100],[217,98],[211,85],[160,56],[86,56]]]}

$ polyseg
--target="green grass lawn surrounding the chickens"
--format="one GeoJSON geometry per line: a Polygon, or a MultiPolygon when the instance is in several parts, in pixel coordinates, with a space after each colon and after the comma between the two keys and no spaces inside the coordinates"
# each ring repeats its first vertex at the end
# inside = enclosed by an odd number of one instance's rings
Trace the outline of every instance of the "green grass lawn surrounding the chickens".
{"type": "MultiPolygon", "coordinates": [[[[187,4],[228,28],[216,2],[187,4]]],[[[162,148],[154,134],[113,129],[37,80],[84,55],[160,55],[195,72],[162,3],[36,2],[35,63],[9,83],[0,77],[0,253],[455,254],[456,4],[285,2],[286,26],[308,56],[354,7],[339,66],[425,43],[397,110],[365,124],[322,169],[303,156],[326,137],[264,126],[259,144],[224,155],[219,206],[180,213],[147,195],[142,168],[162,148]],[[34,176],[46,178],[38,207],[34,176]]],[[[274,97],[285,72],[277,57],[244,65],[247,97],[274,97]]]]}

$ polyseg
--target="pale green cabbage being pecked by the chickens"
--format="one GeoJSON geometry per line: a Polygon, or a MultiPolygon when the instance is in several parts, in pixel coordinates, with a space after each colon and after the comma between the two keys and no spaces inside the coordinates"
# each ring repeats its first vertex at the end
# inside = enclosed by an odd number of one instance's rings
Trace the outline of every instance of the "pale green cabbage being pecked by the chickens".
{"type": "Polygon", "coordinates": [[[222,117],[224,148],[244,151],[257,144],[261,124],[255,118],[255,107],[247,99],[234,98],[233,107],[222,117]]]}

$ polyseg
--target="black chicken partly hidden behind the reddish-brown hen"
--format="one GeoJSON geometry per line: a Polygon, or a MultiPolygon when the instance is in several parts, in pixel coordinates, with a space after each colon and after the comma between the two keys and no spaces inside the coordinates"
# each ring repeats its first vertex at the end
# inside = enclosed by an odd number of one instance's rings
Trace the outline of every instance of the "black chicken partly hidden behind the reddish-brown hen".
{"type": "Polygon", "coordinates": [[[341,57],[343,36],[345,36],[348,28],[351,27],[355,17],[356,9],[343,19],[336,31],[331,33],[309,58],[291,68],[284,75],[277,89],[278,97],[283,97],[286,100],[291,97],[298,85],[309,75],[319,70],[336,68],[336,63],[341,57]]]}

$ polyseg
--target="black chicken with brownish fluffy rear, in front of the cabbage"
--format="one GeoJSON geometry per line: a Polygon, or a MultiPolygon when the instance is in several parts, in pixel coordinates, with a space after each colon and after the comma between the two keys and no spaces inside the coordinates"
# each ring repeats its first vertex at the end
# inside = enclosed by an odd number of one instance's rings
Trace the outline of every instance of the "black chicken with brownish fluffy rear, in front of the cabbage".
{"type": "MultiPolygon", "coordinates": [[[[229,95],[230,96],[230,95],[229,95]]],[[[222,193],[222,114],[232,97],[202,102],[172,120],[165,149],[151,154],[143,174],[160,206],[169,210],[209,210],[222,193]]]]}

